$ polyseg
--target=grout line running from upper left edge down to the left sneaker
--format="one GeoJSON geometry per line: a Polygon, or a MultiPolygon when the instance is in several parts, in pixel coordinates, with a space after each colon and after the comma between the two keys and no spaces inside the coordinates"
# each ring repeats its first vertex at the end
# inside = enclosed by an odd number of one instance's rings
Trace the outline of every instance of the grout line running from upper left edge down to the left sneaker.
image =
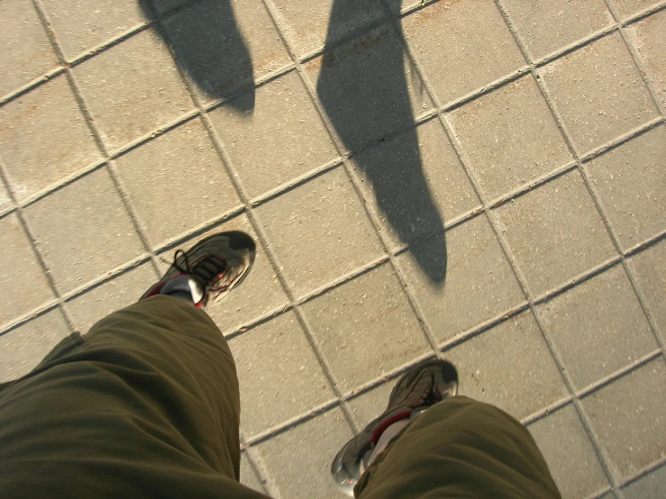
{"type": "Polygon", "coordinates": [[[125,210],[125,213],[127,214],[128,218],[130,219],[130,222],[134,228],[134,231],[138,235],[139,239],[141,240],[141,245],[143,246],[143,249],[150,255],[151,257],[151,263],[152,263],[152,268],[153,272],[155,273],[156,278],[160,277],[160,266],[157,260],[157,257],[155,256],[154,252],[151,249],[151,246],[148,242],[148,238],[146,234],[144,233],[143,229],[141,228],[141,223],[139,222],[139,219],[136,215],[136,213],[133,212],[132,210],[132,205],[129,201],[129,197],[127,194],[124,192],[123,187],[121,186],[118,175],[114,171],[114,165],[113,165],[113,160],[109,158],[108,150],[106,149],[105,143],[102,140],[100,132],[96,128],[96,124],[92,118],[92,115],[88,111],[86,101],[83,98],[83,95],[81,94],[76,79],[74,77],[74,74],[72,73],[72,69],[68,67],[67,63],[65,62],[65,56],[62,51],[62,49],[59,46],[58,39],[56,37],[55,32],[53,31],[49,18],[46,14],[46,10],[44,9],[43,5],[41,5],[41,0],[32,0],[32,4],[34,5],[35,11],[37,11],[37,14],[41,20],[42,26],[44,30],[48,33],[49,36],[49,41],[50,44],[53,48],[53,50],[56,52],[56,55],[60,61],[60,64],[62,64],[66,69],[65,69],[65,75],[68,80],[68,85],[75,95],[75,99],[78,104],[78,108],[80,113],[83,115],[84,120],[86,121],[87,128],[90,132],[90,134],[93,136],[93,139],[96,142],[97,149],[102,153],[102,156],[104,158],[104,162],[101,168],[104,168],[104,165],[106,166],[106,172],[108,176],[111,178],[112,184],[114,185],[116,195],[120,198],[121,204],[123,204],[123,208],[125,210]]]}

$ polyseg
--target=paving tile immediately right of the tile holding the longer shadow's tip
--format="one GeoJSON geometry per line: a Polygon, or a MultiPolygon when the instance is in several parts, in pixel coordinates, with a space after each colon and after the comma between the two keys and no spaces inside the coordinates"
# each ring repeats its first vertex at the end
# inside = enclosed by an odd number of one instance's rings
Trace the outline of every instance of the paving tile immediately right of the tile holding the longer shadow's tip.
{"type": "Polygon", "coordinates": [[[616,254],[578,172],[570,172],[494,213],[534,295],[616,254]]]}

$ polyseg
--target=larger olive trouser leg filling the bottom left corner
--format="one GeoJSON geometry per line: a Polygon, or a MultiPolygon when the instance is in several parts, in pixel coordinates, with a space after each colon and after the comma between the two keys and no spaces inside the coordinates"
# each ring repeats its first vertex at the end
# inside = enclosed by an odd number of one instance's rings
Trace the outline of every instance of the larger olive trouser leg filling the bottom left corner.
{"type": "Polygon", "coordinates": [[[156,296],[0,390],[2,497],[265,497],[237,483],[238,379],[203,311],[156,296]]]}

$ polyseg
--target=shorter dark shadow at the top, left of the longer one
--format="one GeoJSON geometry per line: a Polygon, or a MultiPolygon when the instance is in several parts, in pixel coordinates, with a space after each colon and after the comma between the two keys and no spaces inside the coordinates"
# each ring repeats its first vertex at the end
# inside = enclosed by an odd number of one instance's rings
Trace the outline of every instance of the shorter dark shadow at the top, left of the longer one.
{"type": "MultiPolygon", "coordinates": [[[[169,0],[169,6],[173,4],[169,0]]],[[[147,19],[168,9],[165,0],[139,0],[139,5],[147,19]],[[160,3],[162,8],[156,9],[160,3]]],[[[247,88],[229,105],[242,113],[252,112],[252,59],[230,0],[204,0],[182,7],[166,16],[157,31],[206,104],[247,88]]]]}

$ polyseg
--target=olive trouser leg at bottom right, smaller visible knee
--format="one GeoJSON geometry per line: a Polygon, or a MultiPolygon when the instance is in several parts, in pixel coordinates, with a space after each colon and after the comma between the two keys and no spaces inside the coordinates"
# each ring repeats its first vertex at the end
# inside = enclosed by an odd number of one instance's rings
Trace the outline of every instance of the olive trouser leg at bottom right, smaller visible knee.
{"type": "Polygon", "coordinates": [[[360,499],[560,497],[525,427],[497,407],[464,396],[415,418],[355,492],[360,499]]]}

